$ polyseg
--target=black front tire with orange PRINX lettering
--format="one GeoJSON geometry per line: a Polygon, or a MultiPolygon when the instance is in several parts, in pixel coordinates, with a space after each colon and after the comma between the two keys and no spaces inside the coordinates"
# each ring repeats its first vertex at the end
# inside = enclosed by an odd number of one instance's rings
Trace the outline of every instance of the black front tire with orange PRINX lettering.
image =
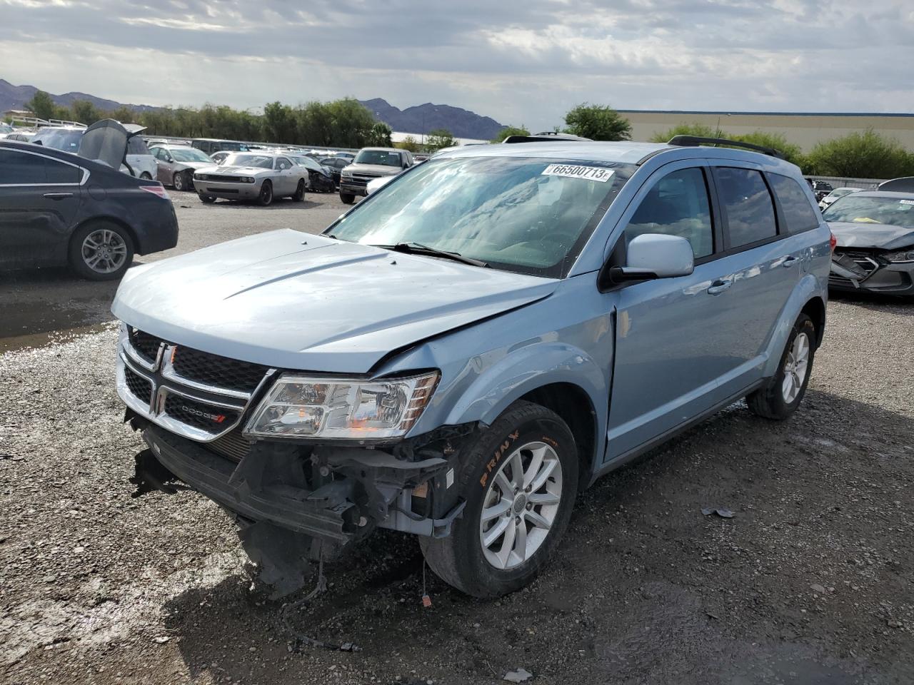
{"type": "MultiPolygon", "coordinates": [[[[515,402],[467,447],[464,463],[466,468],[463,469],[460,491],[466,498],[466,507],[461,517],[453,522],[450,536],[438,539],[420,537],[420,547],[431,570],[448,585],[474,597],[492,598],[507,595],[529,584],[536,577],[547,564],[549,556],[555,551],[568,528],[578,492],[578,449],[569,427],[555,412],[530,402],[515,402]],[[498,494],[497,481],[499,474],[502,473],[501,469],[510,468],[511,457],[518,451],[517,448],[521,448],[520,454],[526,469],[532,452],[526,452],[523,448],[534,443],[551,446],[552,454],[558,457],[561,482],[557,510],[545,538],[525,561],[512,568],[496,568],[486,559],[481,539],[485,501],[486,498],[498,494]]],[[[558,489],[559,484],[553,476],[549,476],[547,480],[552,481],[551,485],[558,489]]],[[[549,485],[550,483],[545,482],[543,488],[549,485]]],[[[526,503],[525,507],[524,503],[526,497],[541,490],[537,489],[529,494],[526,494],[526,490],[515,490],[517,499],[514,506],[506,513],[495,517],[489,530],[498,527],[504,517],[507,520],[507,527],[515,526],[518,535],[520,526],[524,526],[525,539],[530,539],[526,534],[535,530],[536,526],[531,525],[529,529],[526,527],[528,521],[525,510],[530,511],[530,507],[536,505],[531,501],[526,503]]],[[[497,503],[498,498],[495,500],[497,503]]],[[[491,503],[489,506],[492,506],[491,503]]],[[[539,507],[539,511],[533,513],[545,515],[545,511],[543,507],[539,507]]],[[[495,538],[495,543],[499,540],[505,544],[505,537],[502,535],[495,538]]],[[[515,541],[514,534],[511,540],[515,541]]],[[[516,544],[516,541],[513,544],[516,544]]],[[[504,549],[503,546],[502,551],[504,549]]],[[[511,554],[509,549],[508,557],[511,554]]]]}

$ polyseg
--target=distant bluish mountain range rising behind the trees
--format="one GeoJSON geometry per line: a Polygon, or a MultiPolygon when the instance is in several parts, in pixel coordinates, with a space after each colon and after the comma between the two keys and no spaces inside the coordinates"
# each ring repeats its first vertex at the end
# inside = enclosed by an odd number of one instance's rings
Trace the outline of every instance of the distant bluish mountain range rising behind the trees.
{"type": "MultiPolygon", "coordinates": [[[[37,90],[35,86],[14,86],[9,81],[0,79],[0,111],[24,109],[26,102],[34,97],[37,90]]],[[[89,100],[102,111],[112,111],[119,107],[127,107],[133,111],[157,109],[152,105],[123,104],[80,92],[51,94],[51,99],[58,105],[66,107],[73,104],[74,100],[89,100]]],[[[417,137],[435,129],[447,129],[457,138],[487,141],[505,128],[492,117],[480,116],[475,112],[451,105],[435,105],[426,102],[423,105],[400,110],[383,98],[359,101],[367,107],[368,111],[371,111],[377,121],[388,123],[394,131],[414,133],[417,137]]]]}

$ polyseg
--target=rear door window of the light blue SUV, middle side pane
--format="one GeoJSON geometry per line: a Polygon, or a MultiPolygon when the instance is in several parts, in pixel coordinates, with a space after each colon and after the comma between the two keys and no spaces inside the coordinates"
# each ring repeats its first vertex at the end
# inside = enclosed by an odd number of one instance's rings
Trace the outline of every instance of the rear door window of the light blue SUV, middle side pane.
{"type": "Polygon", "coordinates": [[[743,245],[778,235],[771,193],[753,169],[717,168],[717,193],[727,214],[729,245],[743,245]]]}

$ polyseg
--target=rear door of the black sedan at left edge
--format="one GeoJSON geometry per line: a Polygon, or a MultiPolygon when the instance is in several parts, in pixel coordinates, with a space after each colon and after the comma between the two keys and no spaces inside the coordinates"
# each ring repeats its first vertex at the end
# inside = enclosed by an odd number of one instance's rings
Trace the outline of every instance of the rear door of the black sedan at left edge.
{"type": "Polygon", "coordinates": [[[0,147],[0,264],[66,259],[86,175],[49,155],[0,147]]]}

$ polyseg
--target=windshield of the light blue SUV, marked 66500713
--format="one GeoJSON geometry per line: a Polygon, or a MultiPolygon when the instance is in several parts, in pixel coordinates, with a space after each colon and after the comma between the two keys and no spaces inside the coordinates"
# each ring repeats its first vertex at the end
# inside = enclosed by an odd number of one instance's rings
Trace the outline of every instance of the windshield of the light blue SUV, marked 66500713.
{"type": "Polygon", "coordinates": [[[606,162],[462,157],[413,167],[326,233],[420,243],[494,269],[560,278],[634,167],[606,162]]]}

